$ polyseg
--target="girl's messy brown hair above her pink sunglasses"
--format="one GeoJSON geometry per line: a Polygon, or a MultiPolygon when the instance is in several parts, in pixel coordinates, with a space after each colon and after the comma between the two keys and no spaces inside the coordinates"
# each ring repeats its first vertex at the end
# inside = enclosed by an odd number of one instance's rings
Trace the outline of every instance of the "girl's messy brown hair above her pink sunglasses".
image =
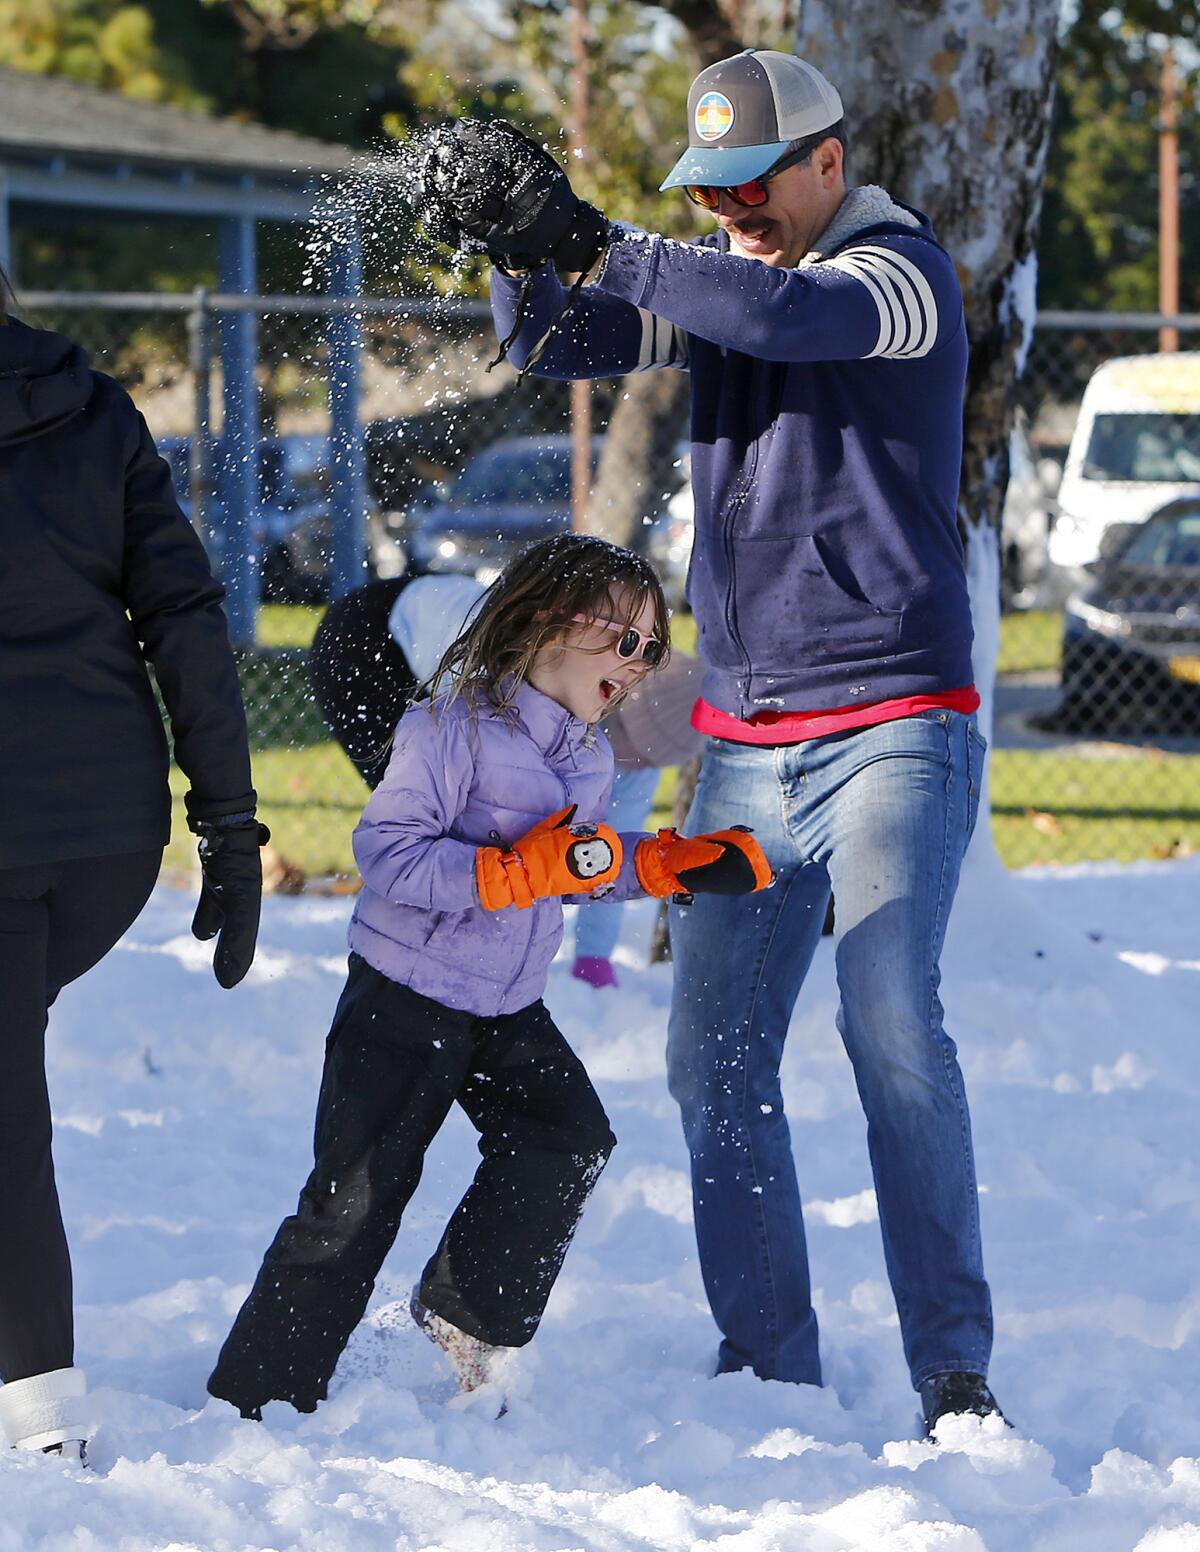
{"type": "Polygon", "coordinates": [[[668,646],[666,599],[647,560],[591,534],[542,539],[483,594],[438,664],[428,694],[436,702],[450,680],[447,705],[466,694],[477,705],[483,697],[506,711],[542,647],[595,619],[632,625],[646,602],[654,605],[654,633],[668,646]]]}

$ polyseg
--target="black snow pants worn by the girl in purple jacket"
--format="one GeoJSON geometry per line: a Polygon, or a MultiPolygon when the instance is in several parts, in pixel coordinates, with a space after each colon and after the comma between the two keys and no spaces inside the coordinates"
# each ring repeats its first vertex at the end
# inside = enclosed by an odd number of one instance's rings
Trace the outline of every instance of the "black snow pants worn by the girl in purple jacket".
{"type": "Polygon", "coordinates": [[[542,1003],[480,1018],[351,954],[315,1166],[220,1350],[213,1395],[244,1412],[269,1400],[314,1411],[455,1100],[483,1161],[425,1266],[421,1302],[486,1342],[529,1341],[613,1148],[599,1097],[542,1003]]]}

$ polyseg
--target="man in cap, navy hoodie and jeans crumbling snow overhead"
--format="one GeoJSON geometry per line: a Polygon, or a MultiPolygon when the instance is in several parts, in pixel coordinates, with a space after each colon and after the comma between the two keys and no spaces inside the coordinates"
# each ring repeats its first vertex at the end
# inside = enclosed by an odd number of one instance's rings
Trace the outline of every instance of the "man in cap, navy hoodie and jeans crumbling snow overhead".
{"type": "Polygon", "coordinates": [[[837,1026],[936,1437],[947,1415],[1000,1411],[970,1117],[936,996],[984,751],[958,531],[962,295],[925,216],[846,186],[841,99],[806,61],[750,50],[703,70],[688,141],[663,188],[716,222],[694,242],[609,222],[511,126],[442,132],[424,182],[438,230],[494,256],[517,366],[691,377],[691,722],[708,737],[689,827],[736,813],[776,875],[770,894],[671,914],[668,1082],[717,1370],[821,1383],[779,1065],[832,891],[837,1026]],[[579,276],[570,290],[557,270],[579,276]]]}

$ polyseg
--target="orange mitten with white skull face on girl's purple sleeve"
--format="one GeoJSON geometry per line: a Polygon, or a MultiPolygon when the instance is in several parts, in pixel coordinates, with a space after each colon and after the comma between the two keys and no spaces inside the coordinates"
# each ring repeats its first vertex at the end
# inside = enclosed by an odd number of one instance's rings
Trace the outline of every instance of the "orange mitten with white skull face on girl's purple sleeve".
{"type": "Polygon", "coordinates": [[[621,872],[621,838],[607,824],[571,824],[576,804],[551,813],[505,850],[475,852],[475,885],[484,911],[523,911],[556,894],[591,894],[621,872]]]}

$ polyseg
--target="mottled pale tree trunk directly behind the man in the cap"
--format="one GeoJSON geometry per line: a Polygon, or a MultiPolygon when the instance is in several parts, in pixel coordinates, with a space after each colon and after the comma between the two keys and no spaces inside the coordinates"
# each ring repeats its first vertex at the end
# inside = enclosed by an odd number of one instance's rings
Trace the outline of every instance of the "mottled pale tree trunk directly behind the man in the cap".
{"type": "MultiPolygon", "coordinates": [[[[1059,0],[804,0],[796,29],[796,53],[841,93],[849,182],[882,183],[925,211],[962,284],[970,365],[959,521],[989,736],[1000,515],[1034,327],[1057,22],[1059,0]]],[[[978,833],[984,844],[973,850],[990,852],[987,824],[978,833]]]]}

